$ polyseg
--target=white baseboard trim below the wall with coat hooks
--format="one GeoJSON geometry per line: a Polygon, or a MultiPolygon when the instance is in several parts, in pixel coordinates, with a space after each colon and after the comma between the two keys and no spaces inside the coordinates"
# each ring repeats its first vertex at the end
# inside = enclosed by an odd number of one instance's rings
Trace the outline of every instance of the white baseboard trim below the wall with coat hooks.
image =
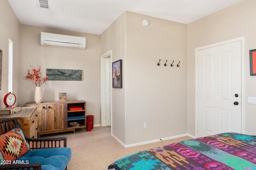
{"type": "MultiPolygon", "coordinates": [[[[185,137],[185,136],[188,136],[188,137],[191,137],[191,138],[196,138],[190,134],[182,134],[182,135],[175,135],[175,136],[172,136],[172,137],[166,137],[166,138],[161,138],[162,141],[166,141],[166,140],[169,140],[169,139],[176,139],[176,138],[179,138],[179,137],[185,137]]],[[[155,140],[152,140],[152,141],[145,141],[145,142],[140,142],[140,143],[134,143],[134,144],[130,144],[130,145],[125,145],[122,141],[120,141],[115,135],[112,134],[112,137],[114,137],[123,147],[125,148],[130,148],[130,147],[136,147],[136,146],[139,146],[139,145],[145,145],[145,144],[149,144],[149,143],[155,143],[155,142],[160,142],[161,140],[160,139],[155,139],[155,140]]]]}

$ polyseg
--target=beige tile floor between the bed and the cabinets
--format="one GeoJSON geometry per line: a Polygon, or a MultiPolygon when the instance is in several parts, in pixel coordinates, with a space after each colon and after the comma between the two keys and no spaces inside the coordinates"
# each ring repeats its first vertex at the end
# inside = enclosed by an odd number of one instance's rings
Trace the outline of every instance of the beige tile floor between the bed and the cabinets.
{"type": "Polygon", "coordinates": [[[110,127],[94,127],[92,131],[86,131],[86,128],[76,129],[75,134],[66,132],[43,135],[42,137],[49,136],[67,137],[67,147],[70,147],[72,150],[72,157],[68,164],[68,170],[107,170],[108,165],[124,156],[138,151],[191,139],[190,137],[181,137],[124,148],[111,136],[110,127]]]}

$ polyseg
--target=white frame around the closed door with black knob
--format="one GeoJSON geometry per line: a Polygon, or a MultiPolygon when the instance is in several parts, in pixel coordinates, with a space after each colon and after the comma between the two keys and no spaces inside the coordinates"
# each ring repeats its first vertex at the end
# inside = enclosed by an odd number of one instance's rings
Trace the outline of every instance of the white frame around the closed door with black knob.
{"type": "Polygon", "coordinates": [[[195,135],[198,137],[198,51],[203,49],[208,49],[220,45],[225,45],[228,43],[234,43],[241,41],[241,130],[245,133],[245,37],[238,37],[235,39],[230,39],[227,41],[222,41],[220,43],[214,43],[211,45],[206,45],[203,47],[198,47],[195,49],[195,135]]]}

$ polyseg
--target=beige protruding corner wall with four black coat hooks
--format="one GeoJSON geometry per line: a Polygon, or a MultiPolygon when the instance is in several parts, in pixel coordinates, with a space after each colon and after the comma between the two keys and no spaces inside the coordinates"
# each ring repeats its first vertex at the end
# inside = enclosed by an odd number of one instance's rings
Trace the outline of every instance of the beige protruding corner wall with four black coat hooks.
{"type": "Polygon", "coordinates": [[[101,54],[112,49],[112,61],[123,59],[123,88],[112,90],[113,135],[132,145],[186,133],[186,25],[125,12],[101,39],[101,54]]]}

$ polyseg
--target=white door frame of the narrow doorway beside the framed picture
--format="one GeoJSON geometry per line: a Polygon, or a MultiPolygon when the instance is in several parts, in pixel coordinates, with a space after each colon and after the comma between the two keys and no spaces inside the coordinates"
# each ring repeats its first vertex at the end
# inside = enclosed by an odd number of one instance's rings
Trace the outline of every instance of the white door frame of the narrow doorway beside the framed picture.
{"type": "MultiPolygon", "coordinates": [[[[100,117],[101,126],[106,126],[106,93],[104,87],[106,87],[106,58],[110,57],[110,62],[112,62],[112,50],[100,55],[100,117]],[[105,120],[105,121],[104,121],[105,120]]],[[[112,66],[110,66],[112,69],[112,66]]],[[[110,80],[110,86],[112,87],[112,80],[110,80]]],[[[112,88],[110,88],[111,106],[110,106],[110,116],[111,116],[111,133],[112,133],[112,88]]]]}

